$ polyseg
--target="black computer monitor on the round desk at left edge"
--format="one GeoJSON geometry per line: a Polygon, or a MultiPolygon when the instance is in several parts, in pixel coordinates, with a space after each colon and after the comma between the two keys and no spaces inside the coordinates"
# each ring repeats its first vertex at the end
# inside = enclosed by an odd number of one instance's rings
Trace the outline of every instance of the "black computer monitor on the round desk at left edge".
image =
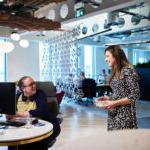
{"type": "Polygon", "coordinates": [[[14,82],[0,82],[0,114],[16,113],[16,85],[14,82]]]}

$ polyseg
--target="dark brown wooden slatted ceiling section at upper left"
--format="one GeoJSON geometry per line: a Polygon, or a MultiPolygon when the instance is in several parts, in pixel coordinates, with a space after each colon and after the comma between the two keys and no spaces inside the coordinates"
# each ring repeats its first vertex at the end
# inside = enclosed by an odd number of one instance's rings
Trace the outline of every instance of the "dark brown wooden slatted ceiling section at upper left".
{"type": "Polygon", "coordinates": [[[59,30],[60,22],[35,17],[35,12],[50,3],[64,0],[3,0],[0,2],[0,26],[18,31],[59,30]]]}

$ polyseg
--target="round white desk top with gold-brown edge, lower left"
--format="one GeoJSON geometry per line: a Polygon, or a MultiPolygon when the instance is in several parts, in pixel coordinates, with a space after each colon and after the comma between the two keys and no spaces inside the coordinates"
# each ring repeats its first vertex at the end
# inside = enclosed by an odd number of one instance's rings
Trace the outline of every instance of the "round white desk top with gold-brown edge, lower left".
{"type": "Polygon", "coordinates": [[[47,121],[40,120],[44,126],[34,126],[31,128],[9,127],[4,129],[4,134],[0,134],[0,146],[17,146],[37,142],[49,137],[53,132],[53,125],[47,121]]]}

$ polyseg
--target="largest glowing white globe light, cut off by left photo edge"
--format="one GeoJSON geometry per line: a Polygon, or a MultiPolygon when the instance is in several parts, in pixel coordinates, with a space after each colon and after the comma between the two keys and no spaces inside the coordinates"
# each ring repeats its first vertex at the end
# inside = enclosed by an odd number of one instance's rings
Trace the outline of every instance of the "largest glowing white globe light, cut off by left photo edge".
{"type": "Polygon", "coordinates": [[[15,48],[14,44],[9,41],[0,42],[0,50],[3,53],[9,53],[15,48]]]}

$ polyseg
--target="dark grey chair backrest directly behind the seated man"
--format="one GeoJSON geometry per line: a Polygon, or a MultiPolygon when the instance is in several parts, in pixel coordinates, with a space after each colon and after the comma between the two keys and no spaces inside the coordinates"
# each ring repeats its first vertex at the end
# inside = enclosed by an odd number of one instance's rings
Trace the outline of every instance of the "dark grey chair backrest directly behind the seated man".
{"type": "Polygon", "coordinates": [[[50,81],[36,81],[37,89],[42,90],[47,95],[47,102],[50,112],[57,116],[59,113],[59,106],[56,98],[56,88],[53,82],[50,81]]]}

